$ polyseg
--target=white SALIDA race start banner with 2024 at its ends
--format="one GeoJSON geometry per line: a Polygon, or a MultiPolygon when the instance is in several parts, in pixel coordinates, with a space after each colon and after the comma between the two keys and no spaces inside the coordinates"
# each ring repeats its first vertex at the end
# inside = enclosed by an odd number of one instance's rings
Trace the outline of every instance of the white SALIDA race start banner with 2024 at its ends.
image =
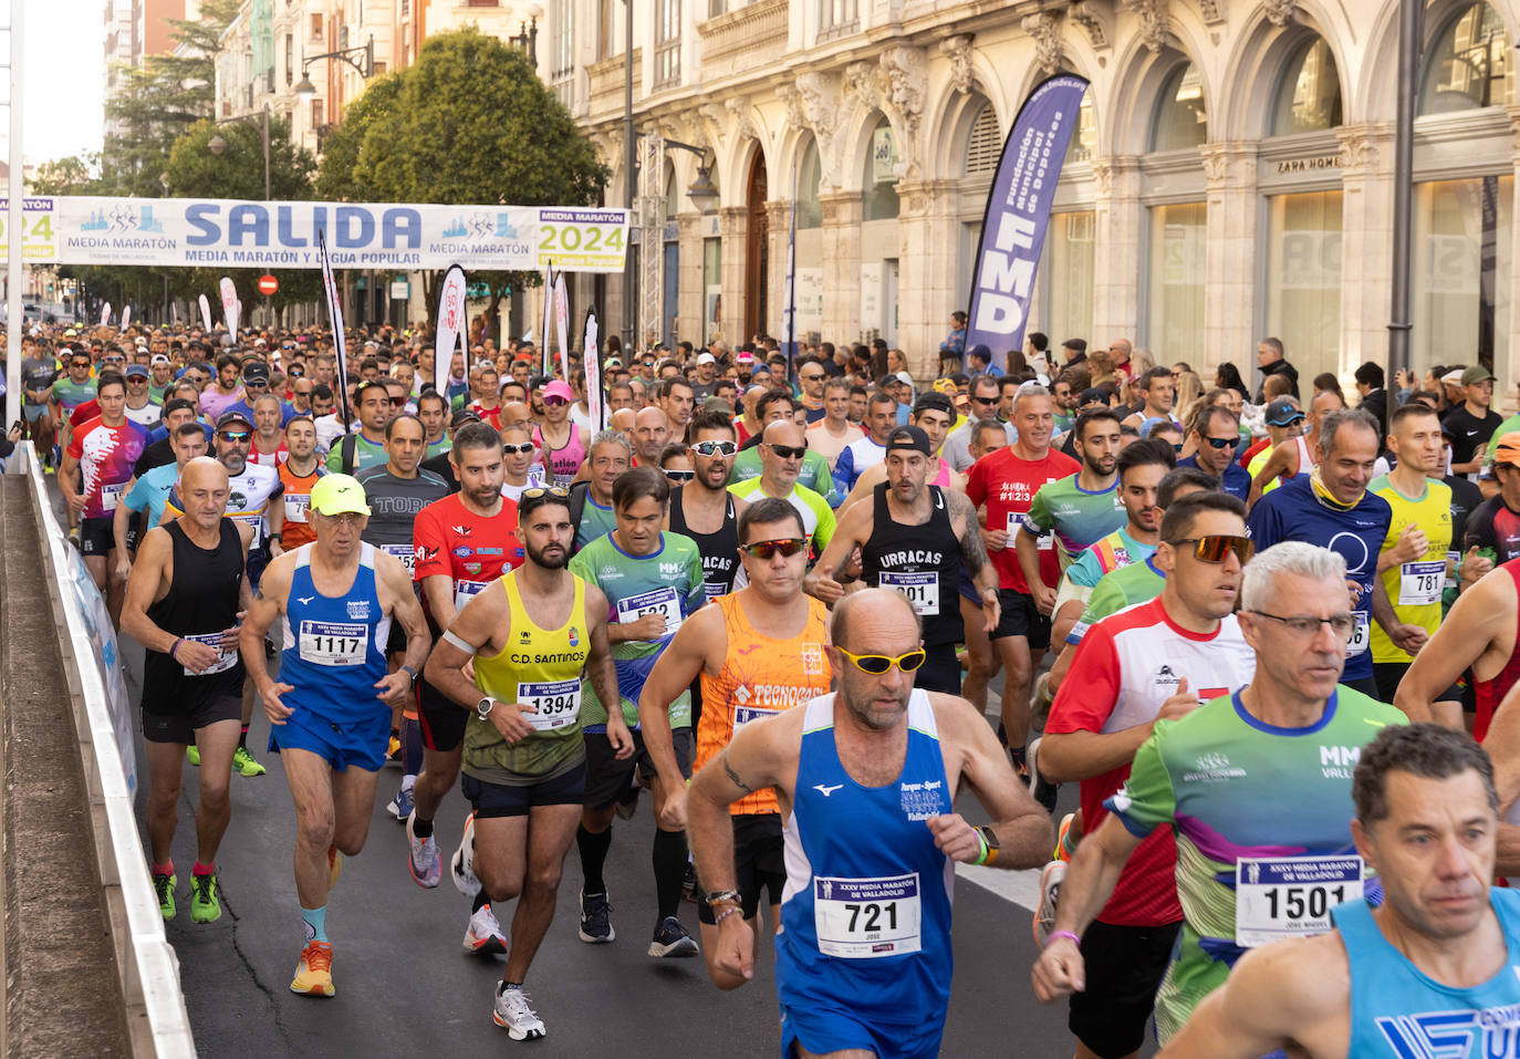
{"type": "Polygon", "coordinates": [[[27,199],[26,260],[157,267],[622,272],[628,211],[233,199],[27,199]],[[44,236],[46,234],[46,236],[44,236]]]}

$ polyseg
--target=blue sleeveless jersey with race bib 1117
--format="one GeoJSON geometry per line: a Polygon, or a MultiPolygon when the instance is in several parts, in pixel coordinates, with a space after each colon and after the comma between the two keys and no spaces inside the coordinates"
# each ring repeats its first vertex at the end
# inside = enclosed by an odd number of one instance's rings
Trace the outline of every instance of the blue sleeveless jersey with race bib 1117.
{"type": "Polygon", "coordinates": [[[281,700],[333,725],[372,722],[391,716],[377,697],[386,675],[385,644],[391,615],[380,612],[375,548],[359,545],[359,570],[344,596],[322,596],[312,583],[312,548],[296,552],[284,614],[280,682],[290,684],[281,700]]]}

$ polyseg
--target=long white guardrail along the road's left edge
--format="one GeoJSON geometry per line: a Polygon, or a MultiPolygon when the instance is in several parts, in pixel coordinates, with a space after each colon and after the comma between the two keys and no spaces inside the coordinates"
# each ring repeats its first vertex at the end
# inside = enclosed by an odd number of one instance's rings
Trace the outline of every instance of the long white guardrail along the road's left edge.
{"type": "MultiPolygon", "coordinates": [[[[120,667],[120,658],[102,658],[87,626],[82,606],[76,605],[74,582],[82,564],[58,526],[49,501],[43,469],[30,442],[17,447],[8,460],[9,474],[24,474],[32,485],[33,517],[47,565],[49,603],[61,631],[59,652],[74,699],[79,754],[94,817],[96,860],[105,887],[105,907],[111,916],[111,944],[123,988],[131,1048],[140,1059],[193,1059],[195,1039],[184,994],[179,989],[179,960],[164,934],[147,860],[137,833],[134,784],[128,779],[119,743],[119,726],[111,717],[100,665],[120,667]],[[146,1027],[144,1027],[146,1021],[146,1027]]],[[[93,583],[82,586],[94,593],[93,583]]],[[[131,729],[128,728],[128,732],[131,729]]],[[[134,755],[131,743],[126,757],[134,755]]]]}

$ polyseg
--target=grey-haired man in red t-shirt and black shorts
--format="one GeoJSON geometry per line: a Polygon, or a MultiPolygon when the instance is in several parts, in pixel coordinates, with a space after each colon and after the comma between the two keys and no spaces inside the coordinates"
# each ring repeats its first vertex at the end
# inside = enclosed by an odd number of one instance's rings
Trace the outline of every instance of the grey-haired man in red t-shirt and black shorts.
{"type": "MultiPolygon", "coordinates": [[[[1029,583],[1012,548],[1012,536],[1040,486],[1070,477],[1082,465],[1050,448],[1055,400],[1044,386],[1026,383],[1018,389],[1011,422],[1018,432],[1018,441],[971,465],[965,495],[977,507],[986,509],[986,529],[982,535],[997,568],[997,599],[1002,605],[1002,618],[991,634],[1003,662],[1002,735],[1018,773],[1028,778],[1024,740],[1029,735],[1029,687],[1035,664],[1050,646],[1050,615],[1043,614],[1029,594],[1029,583]]],[[[1055,548],[1041,550],[1040,574],[1047,585],[1059,582],[1055,548]]]]}

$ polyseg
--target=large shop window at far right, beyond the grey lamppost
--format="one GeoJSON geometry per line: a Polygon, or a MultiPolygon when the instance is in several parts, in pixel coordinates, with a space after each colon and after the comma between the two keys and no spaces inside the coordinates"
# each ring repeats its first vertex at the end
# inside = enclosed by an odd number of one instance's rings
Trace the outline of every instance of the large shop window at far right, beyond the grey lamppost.
{"type": "MultiPolygon", "coordinates": [[[[1484,363],[1509,354],[1512,176],[1415,185],[1414,366],[1484,363]]],[[[1508,372],[1497,372],[1508,378],[1508,372]]]]}

